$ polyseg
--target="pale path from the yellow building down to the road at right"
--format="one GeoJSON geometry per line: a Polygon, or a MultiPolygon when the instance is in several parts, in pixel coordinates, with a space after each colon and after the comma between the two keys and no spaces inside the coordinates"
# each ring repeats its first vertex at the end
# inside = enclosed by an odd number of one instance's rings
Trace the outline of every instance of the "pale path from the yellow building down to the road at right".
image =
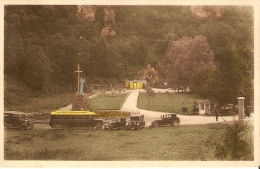
{"type": "MultiPolygon", "coordinates": [[[[122,106],[122,111],[135,111],[140,112],[140,114],[144,114],[146,126],[149,126],[151,122],[155,119],[160,119],[162,114],[167,114],[166,112],[155,112],[149,110],[143,110],[137,108],[137,100],[139,91],[141,90],[129,90],[130,94],[126,99],[124,105],[122,106]]],[[[156,92],[161,91],[162,93],[167,91],[166,89],[155,89],[156,92]]],[[[206,116],[206,115],[196,115],[196,116],[189,116],[189,115],[179,115],[180,117],[180,125],[192,125],[192,124],[208,124],[208,123],[223,123],[223,122],[233,122],[237,120],[238,117],[233,116],[219,116],[218,121],[216,121],[215,116],[206,116]],[[235,119],[234,119],[235,118],[235,119]]],[[[245,117],[245,122],[253,122],[253,114],[251,114],[250,118],[245,117]]]]}

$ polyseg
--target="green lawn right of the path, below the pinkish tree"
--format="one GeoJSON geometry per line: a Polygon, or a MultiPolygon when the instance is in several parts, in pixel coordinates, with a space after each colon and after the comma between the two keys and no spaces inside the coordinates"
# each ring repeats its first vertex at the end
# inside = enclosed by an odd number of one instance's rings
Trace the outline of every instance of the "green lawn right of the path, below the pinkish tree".
{"type": "Polygon", "coordinates": [[[152,96],[140,93],[137,106],[141,109],[171,113],[180,113],[182,107],[187,107],[189,114],[192,114],[196,99],[198,98],[193,95],[183,93],[156,93],[152,96]]]}

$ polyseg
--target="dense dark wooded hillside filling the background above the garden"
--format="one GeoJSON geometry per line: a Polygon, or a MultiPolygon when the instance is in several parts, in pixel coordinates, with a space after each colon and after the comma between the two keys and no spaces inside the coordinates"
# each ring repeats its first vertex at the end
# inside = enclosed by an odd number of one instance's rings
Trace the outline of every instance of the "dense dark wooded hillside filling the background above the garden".
{"type": "MultiPolygon", "coordinates": [[[[167,56],[168,46],[185,42],[186,37],[193,39],[193,44],[180,47],[176,56],[186,56],[178,59],[189,62],[178,66],[188,72],[182,72],[185,77],[167,76],[169,85],[187,85],[194,93],[222,103],[234,102],[238,96],[246,97],[247,104],[252,100],[253,7],[225,6],[221,17],[198,18],[189,6],[115,6],[113,37],[101,36],[102,8],[96,6],[92,21],[80,18],[77,6],[5,6],[5,83],[19,81],[33,93],[67,89],[76,83],[78,63],[87,84],[123,82],[135,78],[148,63],[158,65],[167,56]],[[197,50],[197,46],[203,49],[197,50]],[[200,55],[204,51],[209,53],[200,55]],[[198,57],[193,57],[194,52],[198,57]],[[205,61],[206,56],[214,70],[202,66],[206,72],[189,69],[192,62],[202,64],[197,59],[205,61]],[[180,81],[181,77],[185,80],[180,81]]],[[[167,67],[155,68],[171,72],[172,66],[169,62],[167,67]]]]}

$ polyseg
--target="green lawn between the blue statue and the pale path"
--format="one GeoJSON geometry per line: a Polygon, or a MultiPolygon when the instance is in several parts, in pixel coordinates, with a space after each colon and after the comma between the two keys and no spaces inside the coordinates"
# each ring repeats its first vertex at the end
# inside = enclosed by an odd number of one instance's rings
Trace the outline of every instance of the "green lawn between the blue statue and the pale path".
{"type": "Polygon", "coordinates": [[[101,94],[98,97],[90,100],[90,110],[119,110],[123,106],[127,93],[116,94],[101,94]]]}

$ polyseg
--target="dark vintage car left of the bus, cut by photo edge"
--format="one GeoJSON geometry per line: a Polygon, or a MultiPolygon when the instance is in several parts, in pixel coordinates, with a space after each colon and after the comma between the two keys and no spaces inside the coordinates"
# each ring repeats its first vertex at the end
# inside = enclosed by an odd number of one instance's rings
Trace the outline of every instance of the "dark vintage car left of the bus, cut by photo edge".
{"type": "Polygon", "coordinates": [[[4,112],[4,127],[6,129],[18,128],[20,130],[32,130],[34,128],[33,122],[25,118],[25,113],[18,111],[4,112]]]}

